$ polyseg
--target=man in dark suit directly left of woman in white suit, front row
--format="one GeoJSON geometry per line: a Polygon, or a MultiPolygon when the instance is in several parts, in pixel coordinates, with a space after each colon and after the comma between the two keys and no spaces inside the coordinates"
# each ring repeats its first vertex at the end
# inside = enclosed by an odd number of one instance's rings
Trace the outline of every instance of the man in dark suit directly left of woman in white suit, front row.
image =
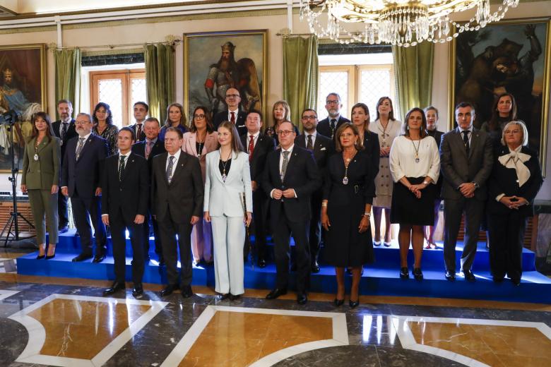
{"type": "Polygon", "coordinates": [[[191,229],[203,213],[205,191],[197,157],[182,152],[182,131],[167,128],[166,153],[153,158],[151,177],[151,212],[157,219],[161,235],[162,256],[167,265],[167,286],[161,296],[172,294],[178,287],[184,298],[191,290],[191,229]],[[176,243],[178,235],[178,244],[176,243]],[[180,284],[178,286],[177,247],[180,251],[180,284]]]}

